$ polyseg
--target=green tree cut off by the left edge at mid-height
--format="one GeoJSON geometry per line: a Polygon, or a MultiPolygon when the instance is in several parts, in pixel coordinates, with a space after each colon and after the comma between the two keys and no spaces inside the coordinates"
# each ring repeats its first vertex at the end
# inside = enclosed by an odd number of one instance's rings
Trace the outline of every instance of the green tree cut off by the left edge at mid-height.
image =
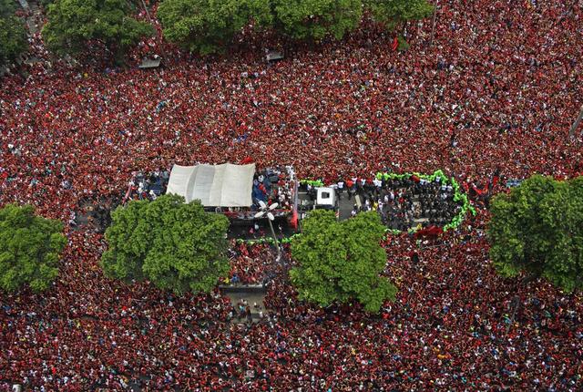
{"type": "Polygon", "coordinates": [[[66,245],[63,223],[35,215],[35,208],[8,204],[0,209],[0,288],[12,293],[28,284],[46,290],[58,274],[66,245]]]}

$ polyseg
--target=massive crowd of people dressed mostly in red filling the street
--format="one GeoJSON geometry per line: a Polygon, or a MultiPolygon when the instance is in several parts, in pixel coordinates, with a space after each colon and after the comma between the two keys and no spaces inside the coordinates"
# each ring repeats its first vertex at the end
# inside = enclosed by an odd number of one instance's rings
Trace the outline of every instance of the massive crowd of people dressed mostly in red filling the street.
{"type": "MultiPolygon", "coordinates": [[[[442,169],[481,189],[495,172],[581,173],[581,132],[567,136],[583,97],[580,2],[444,0],[436,22],[433,45],[430,21],[409,24],[404,53],[367,24],[272,65],[269,36],[210,60],[167,47],[147,72],[39,62],[0,80],[0,203],[67,222],[132,172],[250,158],[329,183],[442,169]]],[[[67,229],[48,293],[0,294],[0,389],[581,390],[581,294],[497,276],[486,222],[478,209],[431,246],[389,237],[400,290],[380,316],[302,304],[280,271],[251,326],[230,323],[220,294],[108,280],[102,234],[67,229]]]]}

